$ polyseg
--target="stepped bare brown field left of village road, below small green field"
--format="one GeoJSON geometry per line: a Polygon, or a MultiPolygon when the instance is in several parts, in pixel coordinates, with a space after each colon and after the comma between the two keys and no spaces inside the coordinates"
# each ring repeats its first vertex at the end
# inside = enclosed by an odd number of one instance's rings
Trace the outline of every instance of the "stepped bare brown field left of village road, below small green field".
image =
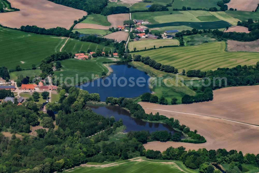
{"type": "Polygon", "coordinates": [[[118,25],[123,26],[123,22],[130,20],[129,14],[114,14],[107,16],[108,22],[111,23],[110,26],[103,26],[91,23],[78,23],[75,25],[74,29],[103,29],[108,30],[111,27],[117,28],[118,25]]]}

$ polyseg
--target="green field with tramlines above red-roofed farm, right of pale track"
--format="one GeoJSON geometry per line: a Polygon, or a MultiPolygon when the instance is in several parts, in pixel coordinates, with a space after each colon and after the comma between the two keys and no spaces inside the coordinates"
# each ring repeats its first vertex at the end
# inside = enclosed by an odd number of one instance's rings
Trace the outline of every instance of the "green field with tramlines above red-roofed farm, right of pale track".
{"type": "Polygon", "coordinates": [[[96,44],[96,43],[90,43],[90,42],[81,42],[79,40],[76,39],[69,39],[68,42],[66,43],[66,45],[63,47],[62,51],[66,51],[66,52],[80,52],[80,51],[85,51],[87,52],[87,50],[90,49],[91,51],[96,51],[97,49],[100,50],[112,50],[112,47],[108,47],[108,46],[103,46],[100,44],[96,44]]]}

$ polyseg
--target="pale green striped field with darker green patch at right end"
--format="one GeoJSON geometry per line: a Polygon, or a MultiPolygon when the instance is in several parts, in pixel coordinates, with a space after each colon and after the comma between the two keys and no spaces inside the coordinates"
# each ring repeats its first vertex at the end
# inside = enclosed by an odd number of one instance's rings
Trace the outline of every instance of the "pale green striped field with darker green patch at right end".
{"type": "Polygon", "coordinates": [[[217,21],[217,17],[210,14],[208,11],[178,11],[176,14],[162,15],[154,17],[158,23],[168,22],[201,22],[201,21],[217,21]]]}

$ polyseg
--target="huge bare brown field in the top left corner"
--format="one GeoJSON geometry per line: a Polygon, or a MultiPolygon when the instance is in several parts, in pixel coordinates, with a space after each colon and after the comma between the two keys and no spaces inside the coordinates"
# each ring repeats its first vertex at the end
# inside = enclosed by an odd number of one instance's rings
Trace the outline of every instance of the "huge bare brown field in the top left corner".
{"type": "Polygon", "coordinates": [[[22,25],[37,25],[41,28],[69,29],[75,20],[87,15],[83,10],[55,4],[47,0],[9,0],[11,5],[20,11],[0,14],[0,24],[11,28],[22,25]]]}

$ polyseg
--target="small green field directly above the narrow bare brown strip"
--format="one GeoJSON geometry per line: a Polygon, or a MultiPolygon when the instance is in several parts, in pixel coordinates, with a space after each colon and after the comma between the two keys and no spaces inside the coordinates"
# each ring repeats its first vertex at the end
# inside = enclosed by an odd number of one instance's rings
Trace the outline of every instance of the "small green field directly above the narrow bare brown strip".
{"type": "Polygon", "coordinates": [[[87,15],[87,18],[84,19],[81,23],[92,23],[97,25],[110,26],[111,23],[108,22],[107,16],[103,16],[100,14],[90,14],[87,15]]]}

